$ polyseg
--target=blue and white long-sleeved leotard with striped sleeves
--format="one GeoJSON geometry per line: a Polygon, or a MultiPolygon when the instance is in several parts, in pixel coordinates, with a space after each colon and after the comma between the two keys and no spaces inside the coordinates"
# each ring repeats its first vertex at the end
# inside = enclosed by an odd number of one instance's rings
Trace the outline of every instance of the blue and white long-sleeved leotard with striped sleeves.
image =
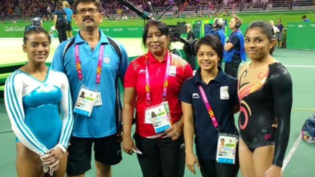
{"type": "Polygon", "coordinates": [[[48,68],[45,79],[40,81],[15,70],[6,79],[4,100],[17,141],[38,155],[55,145],[68,146],[73,114],[64,73],[48,68]]]}

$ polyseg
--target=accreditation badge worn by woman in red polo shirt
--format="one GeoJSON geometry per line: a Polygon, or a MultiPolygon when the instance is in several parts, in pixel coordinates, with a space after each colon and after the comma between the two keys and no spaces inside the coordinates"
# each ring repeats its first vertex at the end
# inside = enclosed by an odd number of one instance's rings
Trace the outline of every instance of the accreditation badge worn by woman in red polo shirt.
{"type": "Polygon", "coordinates": [[[145,122],[153,125],[156,133],[165,131],[171,126],[170,112],[167,101],[147,107],[145,109],[145,122]]]}

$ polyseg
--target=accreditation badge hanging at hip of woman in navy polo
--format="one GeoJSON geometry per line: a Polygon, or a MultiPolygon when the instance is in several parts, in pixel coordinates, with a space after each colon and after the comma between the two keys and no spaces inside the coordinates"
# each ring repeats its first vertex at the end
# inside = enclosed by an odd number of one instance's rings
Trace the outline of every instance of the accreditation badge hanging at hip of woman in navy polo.
{"type": "Polygon", "coordinates": [[[235,164],[237,142],[237,135],[219,133],[217,139],[216,161],[218,163],[235,164]]]}

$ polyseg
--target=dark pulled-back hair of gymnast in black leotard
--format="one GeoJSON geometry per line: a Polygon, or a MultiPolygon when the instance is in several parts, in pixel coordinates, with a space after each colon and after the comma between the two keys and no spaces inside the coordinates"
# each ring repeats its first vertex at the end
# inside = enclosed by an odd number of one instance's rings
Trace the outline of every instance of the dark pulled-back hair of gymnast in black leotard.
{"type": "MultiPolygon", "coordinates": [[[[259,27],[261,29],[261,32],[266,34],[269,41],[273,39],[273,36],[274,36],[273,27],[268,22],[262,21],[262,20],[256,20],[256,21],[251,22],[246,28],[245,35],[248,29],[252,29],[254,27],[259,27]]],[[[273,51],[274,51],[274,45],[272,46],[272,48],[270,48],[269,53],[272,54],[273,51]]]]}

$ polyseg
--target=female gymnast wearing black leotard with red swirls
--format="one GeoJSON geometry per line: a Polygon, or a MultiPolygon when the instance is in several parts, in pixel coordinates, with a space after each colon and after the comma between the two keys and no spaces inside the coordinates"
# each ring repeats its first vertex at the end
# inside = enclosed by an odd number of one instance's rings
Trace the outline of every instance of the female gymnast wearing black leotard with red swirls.
{"type": "Polygon", "coordinates": [[[292,81],[286,68],[270,54],[273,28],[254,21],[245,32],[245,50],[250,62],[238,73],[240,102],[239,164],[243,177],[282,176],[287,147],[292,81]],[[277,122],[277,128],[272,124],[277,122]]]}

